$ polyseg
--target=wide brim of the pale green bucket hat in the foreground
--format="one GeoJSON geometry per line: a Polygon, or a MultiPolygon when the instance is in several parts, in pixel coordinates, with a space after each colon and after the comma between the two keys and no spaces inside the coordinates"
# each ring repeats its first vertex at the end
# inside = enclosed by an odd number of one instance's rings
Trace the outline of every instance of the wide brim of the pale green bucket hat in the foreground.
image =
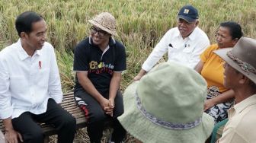
{"type": "MultiPolygon", "coordinates": [[[[123,95],[124,113],[118,119],[121,125],[135,138],[143,142],[204,142],[213,131],[213,118],[203,113],[202,122],[192,129],[174,130],[157,126],[141,113],[136,106],[136,88],[139,81],[126,88],[123,95]]],[[[157,98],[157,97],[156,97],[157,98]]],[[[166,109],[168,110],[168,109],[166,109]]]]}

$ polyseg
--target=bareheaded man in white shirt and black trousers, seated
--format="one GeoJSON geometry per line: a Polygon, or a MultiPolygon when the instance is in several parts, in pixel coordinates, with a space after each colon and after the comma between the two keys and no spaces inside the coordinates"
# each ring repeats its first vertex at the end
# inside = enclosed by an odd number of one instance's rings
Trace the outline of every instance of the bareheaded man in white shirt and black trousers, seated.
{"type": "Polygon", "coordinates": [[[62,90],[53,46],[46,42],[46,22],[33,11],[20,14],[20,39],[0,52],[0,119],[8,143],[41,142],[37,122],[53,125],[58,142],[72,143],[75,118],[59,105],[62,90]]]}

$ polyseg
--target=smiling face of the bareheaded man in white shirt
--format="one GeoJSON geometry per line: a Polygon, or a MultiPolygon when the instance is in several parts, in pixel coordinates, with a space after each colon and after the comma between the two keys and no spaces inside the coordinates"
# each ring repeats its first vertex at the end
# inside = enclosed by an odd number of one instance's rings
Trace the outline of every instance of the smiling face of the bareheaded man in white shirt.
{"type": "Polygon", "coordinates": [[[46,42],[46,22],[34,22],[30,33],[21,32],[21,44],[28,55],[32,56],[36,50],[42,49],[46,42]]]}

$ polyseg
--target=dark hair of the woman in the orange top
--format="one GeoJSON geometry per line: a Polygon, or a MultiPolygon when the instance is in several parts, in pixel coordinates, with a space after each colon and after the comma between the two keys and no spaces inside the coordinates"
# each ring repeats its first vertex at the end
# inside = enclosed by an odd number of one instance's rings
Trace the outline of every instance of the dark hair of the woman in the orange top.
{"type": "Polygon", "coordinates": [[[238,38],[238,40],[243,36],[242,33],[242,27],[240,24],[234,22],[234,21],[226,21],[220,23],[220,27],[228,27],[229,33],[232,37],[232,40],[235,40],[235,38],[238,38]]]}

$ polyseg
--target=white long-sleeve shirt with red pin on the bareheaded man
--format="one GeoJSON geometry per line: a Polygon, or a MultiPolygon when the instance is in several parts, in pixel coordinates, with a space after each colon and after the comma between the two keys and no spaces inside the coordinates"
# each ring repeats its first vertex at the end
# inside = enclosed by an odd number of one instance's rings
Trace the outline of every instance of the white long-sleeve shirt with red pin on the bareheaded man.
{"type": "Polygon", "coordinates": [[[0,119],[14,119],[26,111],[46,112],[47,102],[62,101],[59,69],[53,46],[28,56],[21,40],[0,52],[0,119]]]}

